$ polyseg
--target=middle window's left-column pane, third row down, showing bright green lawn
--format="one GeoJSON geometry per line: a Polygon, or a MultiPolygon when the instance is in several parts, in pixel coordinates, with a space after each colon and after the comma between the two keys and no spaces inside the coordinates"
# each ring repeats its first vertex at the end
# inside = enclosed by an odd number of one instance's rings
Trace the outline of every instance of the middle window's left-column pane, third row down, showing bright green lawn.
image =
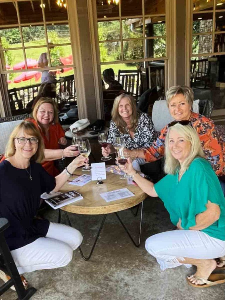
{"type": "Polygon", "coordinates": [[[99,50],[101,62],[121,60],[120,42],[99,43],[99,50]]]}

